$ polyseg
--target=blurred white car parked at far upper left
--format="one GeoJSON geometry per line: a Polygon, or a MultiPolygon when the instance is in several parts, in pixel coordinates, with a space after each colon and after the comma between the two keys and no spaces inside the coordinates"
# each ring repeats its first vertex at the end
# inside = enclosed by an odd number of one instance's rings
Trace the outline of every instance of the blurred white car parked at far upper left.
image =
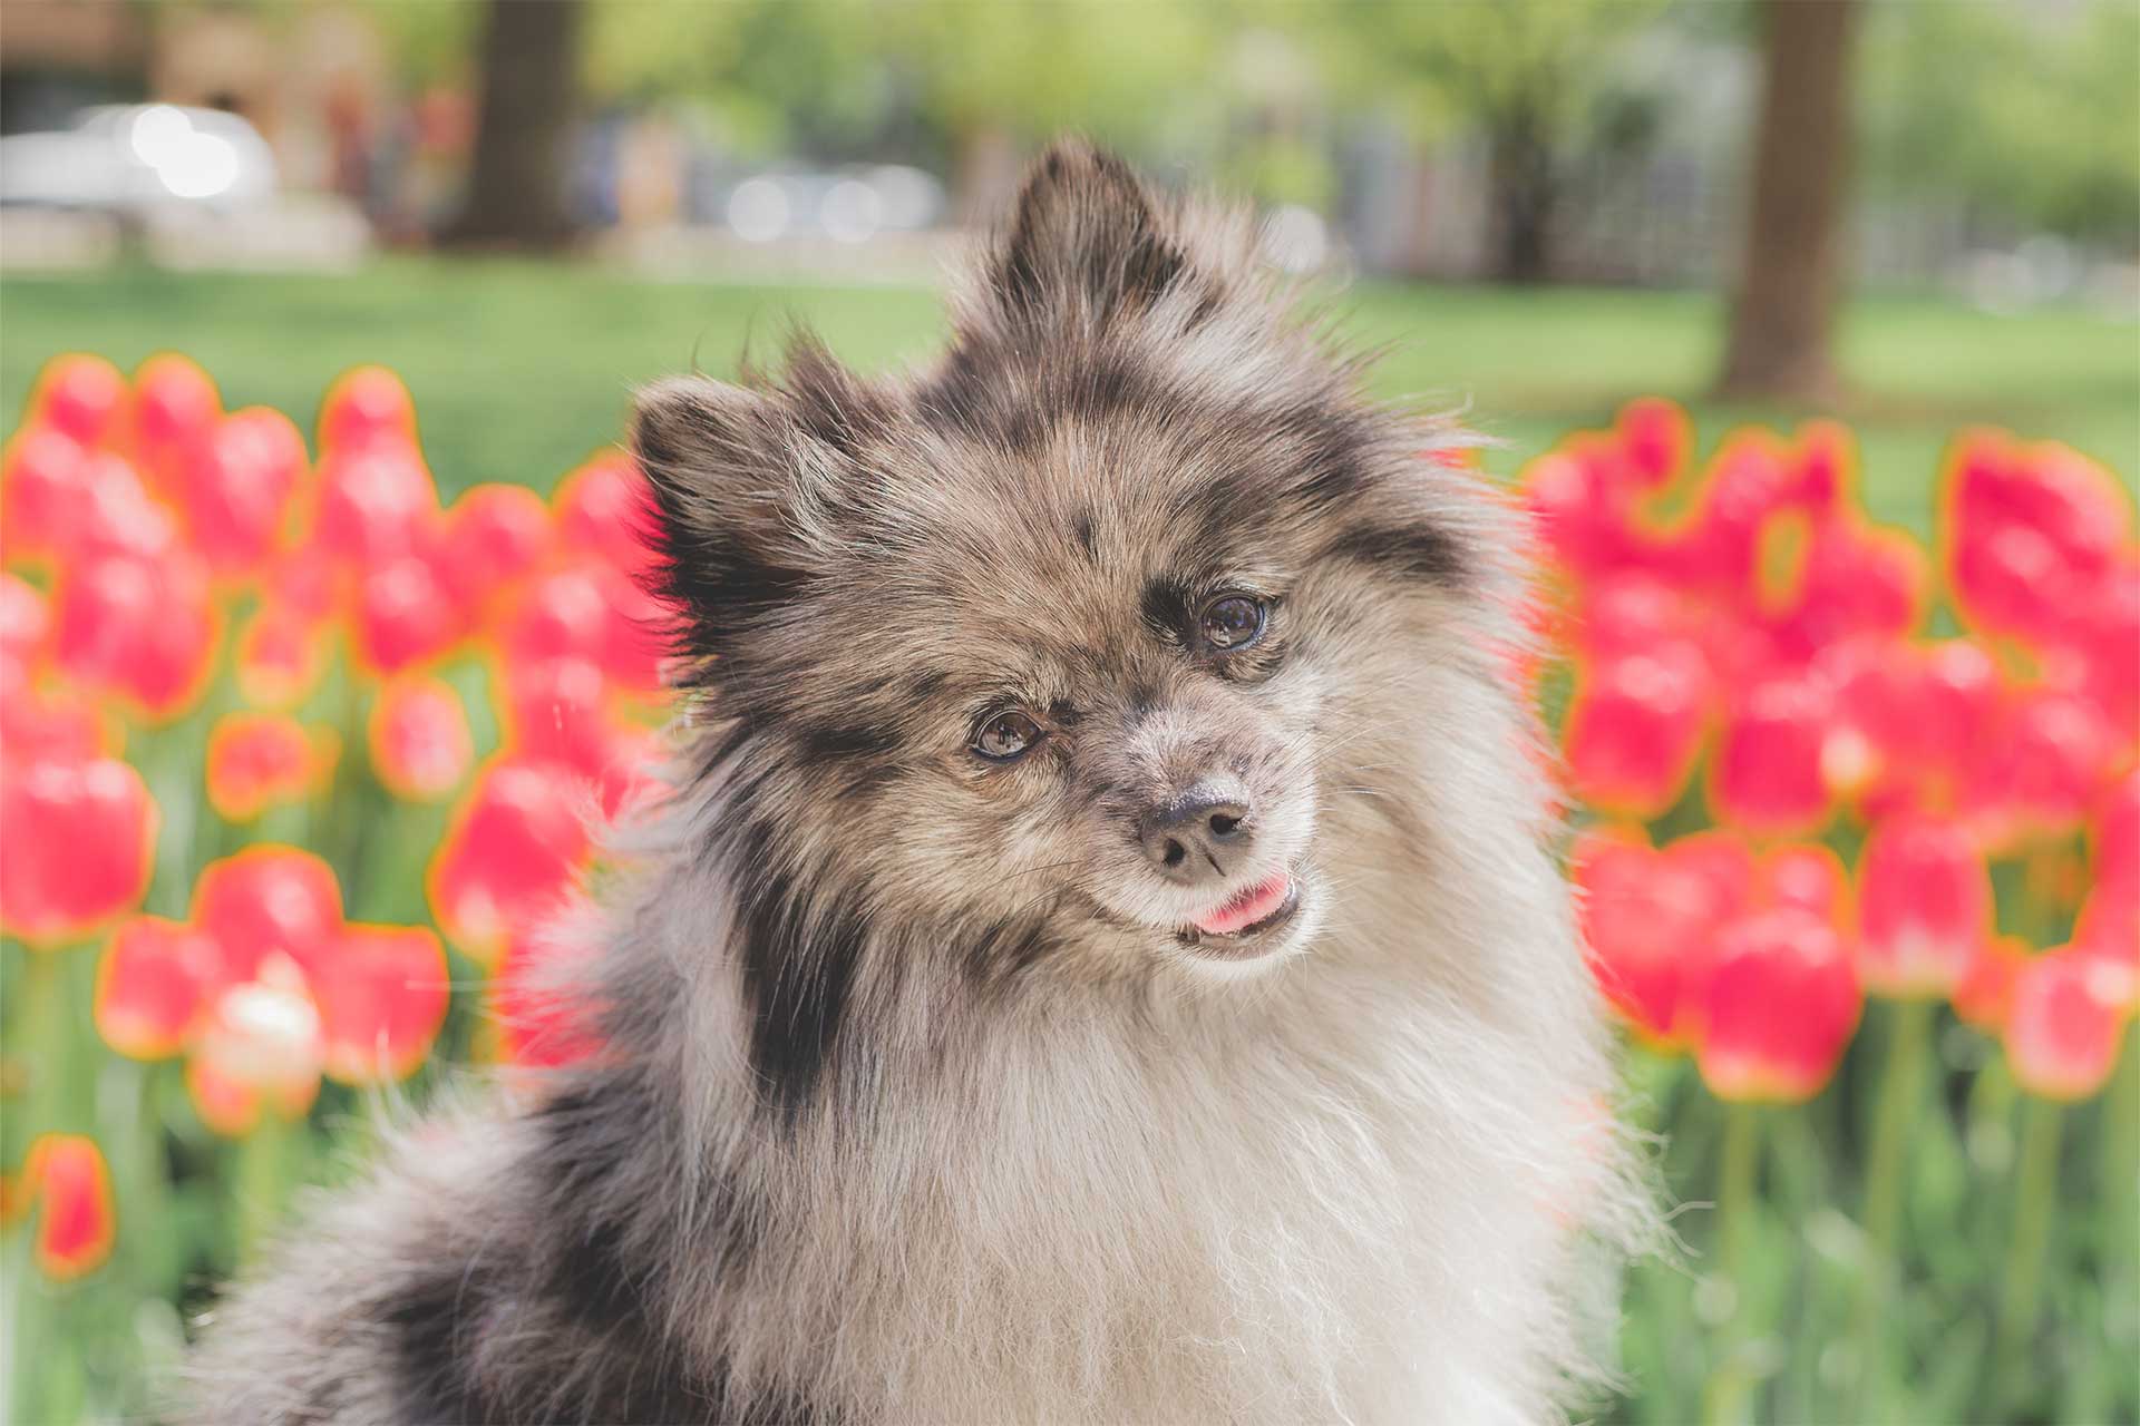
{"type": "Polygon", "coordinates": [[[148,214],[274,197],[274,154],[220,109],[105,105],[73,128],[0,139],[0,203],[148,214]]]}

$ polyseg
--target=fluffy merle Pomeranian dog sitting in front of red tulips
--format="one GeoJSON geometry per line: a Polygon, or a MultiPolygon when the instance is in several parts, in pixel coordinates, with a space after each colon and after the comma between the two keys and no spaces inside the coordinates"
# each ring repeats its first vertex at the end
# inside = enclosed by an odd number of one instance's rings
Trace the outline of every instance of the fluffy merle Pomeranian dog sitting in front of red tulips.
{"type": "Polygon", "coordinates": [[[952,319],[640,396],[687,712],[554,932],[601,1050],[315,1204],[199,1420],[1477,1426],[1609,1375],[1644,1195],[1507,500],[1245,212],[1083,143],[952,319]]]}

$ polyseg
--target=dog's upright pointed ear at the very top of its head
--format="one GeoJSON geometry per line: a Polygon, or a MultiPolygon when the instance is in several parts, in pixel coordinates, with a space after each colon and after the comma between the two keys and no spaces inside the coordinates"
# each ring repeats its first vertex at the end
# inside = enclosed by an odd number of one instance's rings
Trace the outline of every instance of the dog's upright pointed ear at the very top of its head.
{"type": "Polygon", "coordinates": [[[1102,325],[1149,310],[1190,278],[1168,227],[1130,165],[1059,139],[1025,173],[987,267],[991,297],[1012,323],[1102,325]]]}

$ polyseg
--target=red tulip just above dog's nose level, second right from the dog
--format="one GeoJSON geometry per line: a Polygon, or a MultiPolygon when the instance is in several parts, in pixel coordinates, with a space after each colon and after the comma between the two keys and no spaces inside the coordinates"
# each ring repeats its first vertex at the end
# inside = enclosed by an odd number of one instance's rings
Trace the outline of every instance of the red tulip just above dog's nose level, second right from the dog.
{"type": "Polygon", "coordinates": [[[1815,678],[1772,676],[1731,699],[1710,800],[1718,821],[1766,834],[1813,832],[1828,821],[1828,748],[1834,697],[1815,678]]]}

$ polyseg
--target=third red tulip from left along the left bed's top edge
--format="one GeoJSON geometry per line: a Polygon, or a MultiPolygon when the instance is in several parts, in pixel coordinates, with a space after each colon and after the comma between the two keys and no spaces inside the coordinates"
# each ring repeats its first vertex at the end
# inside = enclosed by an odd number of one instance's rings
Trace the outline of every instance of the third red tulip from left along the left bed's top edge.
{"type": "Polygon", "coordinates": [[[268,562],[304,466],[304,436],[278,410],[248,406],[216,423],[193,451],[182,490],[186,530],[210,569],[242,575],[268,562]]]}

